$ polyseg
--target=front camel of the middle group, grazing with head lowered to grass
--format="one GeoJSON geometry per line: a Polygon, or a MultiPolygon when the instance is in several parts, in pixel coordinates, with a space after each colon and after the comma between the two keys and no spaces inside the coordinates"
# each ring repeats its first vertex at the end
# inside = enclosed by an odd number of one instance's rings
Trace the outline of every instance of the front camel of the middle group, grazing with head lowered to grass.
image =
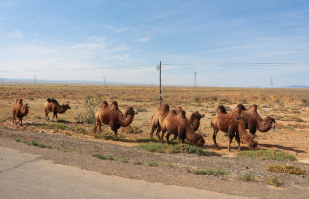
{"type": "Polygon", "coordinates": [[[162,123],[162,135],[161,135],[161,143],[163,143],[163,137],[166,131],[171,134],[177,134],[180,143],[184,143],[185,138],[197,145],[202,147],[205,143],[202,135],[196,132],[193,132],[190,123],[186,119],[186,112],[180,111],[177,115],[176,111],[172,110],[169,112],[167,117],[163,120],[162,123]]]}

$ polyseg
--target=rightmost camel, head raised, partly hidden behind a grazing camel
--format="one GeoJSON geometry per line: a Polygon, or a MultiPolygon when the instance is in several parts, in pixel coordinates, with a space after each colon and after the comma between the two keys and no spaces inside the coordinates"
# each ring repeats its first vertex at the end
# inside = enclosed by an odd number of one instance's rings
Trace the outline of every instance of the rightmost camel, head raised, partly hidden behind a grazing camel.
{"type": "Polygon", "coordinates": [[[252,105],[249,109],[245,109],[245,107],[241,104],[238,106],[242,106],[241,115],[243,116],[246,129],[249,129],[251,134],[255,134],[256,128],[258,128],[260,132],[266,132],[276,127],[276,121],[274,118],[270,116],[267,116],[264,119],[261,118],[261,116],[256,111],[258,105],[252,105]]]}

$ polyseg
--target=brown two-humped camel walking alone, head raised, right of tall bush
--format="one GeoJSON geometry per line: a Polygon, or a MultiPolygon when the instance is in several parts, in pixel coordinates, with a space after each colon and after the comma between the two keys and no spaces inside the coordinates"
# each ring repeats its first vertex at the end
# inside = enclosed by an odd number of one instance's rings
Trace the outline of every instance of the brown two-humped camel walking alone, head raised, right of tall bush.
{"type": "Polygon", "coordinates": [[[94,114],[96,123],[92,135],[95,133],[96,137],[97,127],[99,127],[99,130],[102,133],[101,125],[103,123],[105,125],[110,125],[111,129],[114,131],[114,134],[109,135],[109,137],[115,135],[116,140],[118,140],[117,136],[118,129],[121,126],[122,127],[129,126],[133,122],[134,115],[137,113],[138,113],[137,110],[133,109],[133,107],[130,107],[125,111],[125,114],[123,114],[118,109],[118,104],[116,101],[113,101],[111,106],[109,106],[109,104],[106,101],[102,101],[100,104],[100,108],[94,114]]]}

